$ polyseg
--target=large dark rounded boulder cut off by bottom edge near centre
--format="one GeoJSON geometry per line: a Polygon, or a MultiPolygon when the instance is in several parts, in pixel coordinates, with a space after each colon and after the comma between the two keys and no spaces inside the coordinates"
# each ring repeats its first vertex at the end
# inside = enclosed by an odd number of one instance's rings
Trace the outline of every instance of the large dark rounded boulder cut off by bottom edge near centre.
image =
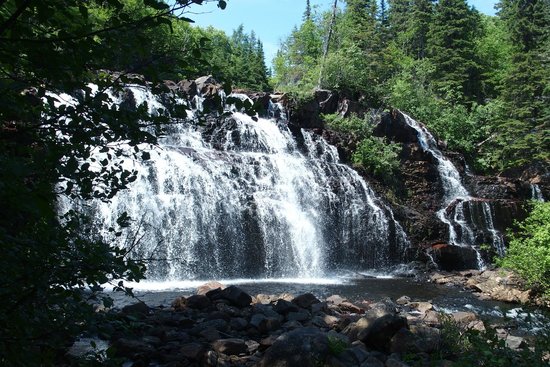
{"type": "Polygon", "coordinates": [[[261,367],[314,367],[328,357],[329,339],[316,328],[302,328],[281,335],[266,350],[261,367]]]}

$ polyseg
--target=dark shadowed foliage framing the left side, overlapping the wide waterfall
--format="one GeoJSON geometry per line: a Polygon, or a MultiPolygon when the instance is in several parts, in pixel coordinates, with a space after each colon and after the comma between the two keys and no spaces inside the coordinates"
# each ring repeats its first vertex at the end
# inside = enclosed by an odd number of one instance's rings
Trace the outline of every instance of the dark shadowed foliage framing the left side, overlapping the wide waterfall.
{"type": "Polygon", "coordinates": [[[99,239],[82,214],[59,218],[58,199],[108,201],[135,180],[122,159],[147,159],[141,148],[168,114],[110,96],[145,84],[133,73],[153,82],[191,74],[201,42],[177,41],[192,31],[175,13],[192,3],[0,1],[1,365],[57,364],[75,336],[100,327],[93,304],[111,306],[100,285],[143,277],[144,264],[123,250],[131,218],[99,239]]]}

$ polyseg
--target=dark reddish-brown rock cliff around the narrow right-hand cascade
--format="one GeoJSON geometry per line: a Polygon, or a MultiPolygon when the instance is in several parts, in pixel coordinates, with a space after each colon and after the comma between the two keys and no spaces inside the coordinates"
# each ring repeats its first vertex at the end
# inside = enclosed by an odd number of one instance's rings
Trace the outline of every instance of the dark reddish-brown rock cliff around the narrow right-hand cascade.
{"type": "MultiPolygon", "coordinates": [[[[327,91],[316,92],[315,98],[301,109],[293,110],[296,106],[292,105],[289,108],[291,124],[315,128],[317,133],[338,147],[344,161],[350,162],[357,142],[350,136],[325,129],[320,114],[361,115],[366,109],[327,91]]],[[[480,261],[489,263],[494,256],[502,255],[506,230],[514,220],[525,218],[526,202],[549,196],[550,173],[547,167],[534,166],[505,172],[501,176],[478,176],[470,172],[460,154],[445,151],[444,144],[438,142],[440,150],[460,172],[462,184],[471,196],[451,203],[446,209],[446,216],[464,224],[454,224],[453,229],[459,238],[467,237],[476,250],[452,246],[449,243],[450,228],[436,215],[445,194],[438,174],[438,162],[432,154],[422,149],[417,131],[406,123],[403,114],[393,111],[381,115],[374,134],[399,143],[403,148],[400,174],[395,177],[395,187],[388,201],[417,250],[411,255],[434,261],[442,269],[475,268],[479,267],[480,261]]],[[[378,179],[368,172],[360,173],[379,189],[379,194],[389,199],[387,185],[377,182],[378,179]]]]}

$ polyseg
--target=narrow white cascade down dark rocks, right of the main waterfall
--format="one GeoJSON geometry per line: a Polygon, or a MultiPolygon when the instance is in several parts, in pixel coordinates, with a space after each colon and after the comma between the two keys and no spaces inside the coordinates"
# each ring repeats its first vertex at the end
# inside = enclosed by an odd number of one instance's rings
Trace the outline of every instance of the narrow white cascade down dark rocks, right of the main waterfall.
{"type": "MultiPolygon", "coordinates": [[[[504,239],[495,228],[494,212],[483,199],[470,196],[462,184],[460,173],[454,164],[439,150],[437,142],[426,127],[403,114],[407,125],[417,132],[420,147],[437,161],[437,170],[443,186],[444,198],[437,218],[449,228],[449,243],[454,246],[471,247],[476,252],[477,267],[485,268],[485,262],[476,246],[476,233],[484,231],[491,237],[490,245],[499,255],[505,254],[504,239]],[[481,210],[480,210],[481,208],[481,210]]],[[[489,244],[487,244],[489,245],[489,244]]]]}

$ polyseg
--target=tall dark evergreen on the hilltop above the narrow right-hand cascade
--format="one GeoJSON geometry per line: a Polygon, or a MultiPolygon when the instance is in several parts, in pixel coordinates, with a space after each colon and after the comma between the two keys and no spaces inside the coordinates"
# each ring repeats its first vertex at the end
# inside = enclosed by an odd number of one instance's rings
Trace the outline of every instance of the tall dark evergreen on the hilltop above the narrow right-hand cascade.
{"type": "Polygon", "coordinates": [[[433,84],[450,101],[473,100],[479,95],[480,70],[475,40],[480,16],[466,0],[440,0],[428,38],[428,54],[435,72],[433,84]]]}

